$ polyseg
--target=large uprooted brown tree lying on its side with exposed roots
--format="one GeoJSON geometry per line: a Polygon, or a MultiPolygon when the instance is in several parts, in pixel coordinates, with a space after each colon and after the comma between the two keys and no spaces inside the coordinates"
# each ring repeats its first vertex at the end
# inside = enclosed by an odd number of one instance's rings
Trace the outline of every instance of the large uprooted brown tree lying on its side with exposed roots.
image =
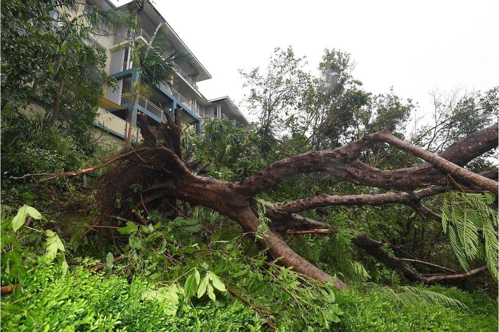
{"type": "MultiPolygon", "coordinates": [[[[425,218],[440,220],[438,214],[424,205],[423,199],[444,193],[449,187],[456,185],[462,190],[489,191],[496,196],[498,194],[498,183],[494,180],[497,178],[496,170],[477,174],[463,168],[472,159],[497,147],[497,124],[457,141],[439,156],[412,146],[385,128],[345,146],[291,156],[274,162],[241,181],[226,182],[204,175],[206,165],[201,165],[193,156],[193,147],[183,154],[180,136],[182,110],[176,109],[174,117],[168,112],[165,114],[167,123],[155,128],[150,126],[144,114],[139,114],[143,144],[132,145],[97,167],[58,176],[78,176],[114,164],[99,181],[97,201],[100,202],[101,222],[120,215],[124,220],[138,219],[143,224],[142,217],[137,216],[137,209],[148,211],[167,205],[169,209],[178,211],[178,201],[202,205],[237,222],[244,232],[258,233],[255,236],[258,244],[267,248],[271,257],[280,258],[283,266],[292,267],[294,271],[319,281],[333,282],[337,288],[345,288],[347,285],[308,262],[286,244],[284,234],[327,234],[335,231],[328,224],[300,216],[298,212],[334,205],[404,204],[425,218]],[[358,156],[360,152],[377,144],[389,144],[425,162],[415,167],[395,170],[370,167],[358,156]],[[271,223],[262,231],[259,227],[262,216],[257,209],[259,203],[256,196],[293,176],[313,172],[322,172],[356,185],[397,192],[323,194],[291,202],[267,203],[271,208],[266,209],[265,218],[271,223]],[[137,192],[130,191],[131,185],[139,185],[141,189],[137,192]],[[113,197],[117,193],[131,204],[123,204],[117,208],[113,203],[113,197]]],[[[459,273],[423,260],[395,257],[383,250],[381,242],[364,233],[358,233],[352,243],[411,281],[430,284],[468,278],[487,270],[487,267],[480,267],[459,273]],[[425,276],[407,267],[407,263],[426,265],[440,273],[425,276]]]]}

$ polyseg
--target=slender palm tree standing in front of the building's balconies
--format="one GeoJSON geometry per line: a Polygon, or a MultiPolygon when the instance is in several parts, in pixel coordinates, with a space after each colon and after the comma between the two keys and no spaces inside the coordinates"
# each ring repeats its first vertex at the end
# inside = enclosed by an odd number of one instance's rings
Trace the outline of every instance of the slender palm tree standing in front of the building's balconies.
{"type": "Polygon", "coordinates": [[[132,112],[128,124],[128,132],[125,138],[125,148],[131,144],[132,124],[135,120],[133,110],[137,106],[139,95],[147,96],[150,94],[148,84],[157,85],[163,83],[169,87],[174,87],[173,75],[175,69],[181,63],[192,63],[189,53],[173,52],[168,54],[166,49],[168,28],[162,23],[156,28],[151,41],[146,46],[142,41],[134,39],[130,42],[131,60],[137,70],[137,80],[130,89],[130,103],[132,112]]]}

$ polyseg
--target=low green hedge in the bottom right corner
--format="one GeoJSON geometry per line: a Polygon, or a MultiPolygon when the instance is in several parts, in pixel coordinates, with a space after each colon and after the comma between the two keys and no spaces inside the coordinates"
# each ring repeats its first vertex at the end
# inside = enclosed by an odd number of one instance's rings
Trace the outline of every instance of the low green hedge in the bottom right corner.
{"type": "Polygon", "coordinates": [[[497,303],[481,292],[417,287],[393,291],[374,287],[352,289],[337,295],[345,311],[334,330],[343,331],[495,331],[497,303]],[[388,292],[387,292],[388,290],[388,292]],[[425,300],[432,294],[431,301],[425,300]],[[465,306],[456,308],[447,298],[465,306]],[[450,304],[450,306],[449,306],[450,304]]]}

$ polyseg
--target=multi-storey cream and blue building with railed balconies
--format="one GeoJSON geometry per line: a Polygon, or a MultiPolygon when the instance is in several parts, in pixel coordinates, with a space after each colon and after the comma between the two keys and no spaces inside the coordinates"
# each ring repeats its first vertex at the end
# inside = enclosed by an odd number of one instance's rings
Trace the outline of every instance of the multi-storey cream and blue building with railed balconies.
{"type": "MultiPolygon", "coordinates": [[[[123,138],[127,118],[130,118],[131,112],[145,113],[153,123],[166,121],[160,105],[172,110],[177,106],[182,107],[184,109],[183,122],[192,124],[197,131],[201,128],[203,118],[208,116],[230,118],[243,125],[248,125],[244,115],[229,97],[208,100],[202,95],[197,82],[208,80],[212,76],[150,2],[132,1],[115,7],[107,0],[87,0],[82,7],[82,10],[92,10],[95,7],[101,10],[123,10],[136,15],[141,24],[141,30],[133,33],[133,37],[125,28],[118,27],[114,31],[115,33],[94,36],[93,40],[88,41],[105,50],[107,54],[106,70],[109,75],[118,80],[116,88],[105,88],[104,90],[97,126],[123,138]],[[130,98],[125,93],[130,91],[130,87],[137,79],[137,70],[133,62],[130,61],[129,40],[130,38],[141,38],[144,43],[149,43],[156,28],[161,24],[166,25],[169,30],[167,38],[170,49],[166,51],[189,53],[194,61],[191,64],[180,65],[176,70],[173,78],[175,88],[164,84],[151,86],[151,95],[147,99],[139,97],[135,109],[131,109],[130,98]]],[[[137,116],[134,118],[135,125],[137,116]]],[[[137,133],[137,130],[135,132],[137,133]]]]}

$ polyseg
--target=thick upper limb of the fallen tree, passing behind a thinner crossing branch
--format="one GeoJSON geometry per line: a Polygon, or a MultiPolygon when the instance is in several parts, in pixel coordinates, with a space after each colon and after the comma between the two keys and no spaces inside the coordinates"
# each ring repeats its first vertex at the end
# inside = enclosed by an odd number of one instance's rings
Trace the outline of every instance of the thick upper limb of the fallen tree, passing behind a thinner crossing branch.
{"type": "MultiPolygon", "coordinates": [[[[379,170],[361,162],[356,153],[375,144],[372,137],[373,134],[340,148],[312,151],[282,159],[236,182],[235,189],[247,197],[252,197],[294,175],[312,172],[326,172],[337,179],[356,184],[398,188],[404,191],[425,185],[446,184],[446,174],[429,162],[391,171],[379,170]]],[[[497,142],[497,124],[495,124],[451,145],[440,157],[463,166],[497,147],[497,142]]]]}

